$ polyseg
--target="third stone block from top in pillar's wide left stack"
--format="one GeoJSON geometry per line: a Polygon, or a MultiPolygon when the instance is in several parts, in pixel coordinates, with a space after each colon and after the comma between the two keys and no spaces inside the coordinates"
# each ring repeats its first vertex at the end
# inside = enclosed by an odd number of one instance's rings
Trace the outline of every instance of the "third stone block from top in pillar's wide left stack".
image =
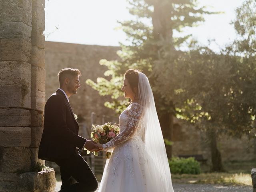
{"type": "Polygon", "coordinates": [[[29,62],[31,52],[30,40],[23,38],[2,38],[0,57],[2,61],[29,62]]]}

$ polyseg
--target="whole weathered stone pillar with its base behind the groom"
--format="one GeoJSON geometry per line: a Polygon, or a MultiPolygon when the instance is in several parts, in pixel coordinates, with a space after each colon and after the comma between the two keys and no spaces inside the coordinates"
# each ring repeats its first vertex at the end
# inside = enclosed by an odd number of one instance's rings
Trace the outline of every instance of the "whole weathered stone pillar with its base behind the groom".
{"type": "Polygon", "coordinates": [[[44,0],[0,0],[0,191],[52,192],[38,160],[45,102],[44,0]]]}

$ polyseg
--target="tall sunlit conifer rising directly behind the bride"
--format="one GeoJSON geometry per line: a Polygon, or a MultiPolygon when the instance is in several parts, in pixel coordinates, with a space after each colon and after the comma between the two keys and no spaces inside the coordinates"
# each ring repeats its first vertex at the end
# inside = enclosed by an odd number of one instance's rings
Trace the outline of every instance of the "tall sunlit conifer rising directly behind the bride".
{"type": "MultiPolygon", "coordinates": [[[[190,35],[177,38],[173,32],[196,26],[204,21],[204,14],[211,12],[198,7],[197,0],[130,0],[129,3],[129,11],[134,20],[120,22],[129,44],[121,44],[122,50],[118,52],[120,60],[100,61],[101,65],[108,68],[104,73],[105,78],[86,82],[98,90],[100,95],[111,95],[112,100],[105,105],[120,113],[128,104],[120,90],[124,72],[129,68],[142,70],[149,77],[154,92],[164,137],[171,140],[175,106],[172,100],[163,98],[157,91],[155,69],[162,65],[159,56],[166,52],[178,56],[180,46],[189,42],[190,35]]],[[[166,149],[170,158],[172,148],[166,145],[166,149]]]]}

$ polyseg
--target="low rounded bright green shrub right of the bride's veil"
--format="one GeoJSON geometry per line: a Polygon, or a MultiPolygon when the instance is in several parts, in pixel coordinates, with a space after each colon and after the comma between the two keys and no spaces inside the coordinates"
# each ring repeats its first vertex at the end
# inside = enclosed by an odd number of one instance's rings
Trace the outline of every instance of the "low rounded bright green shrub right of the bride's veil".
{"type": "Polygon", "coordinates": [[[194,157],[178,158],[173,157],[169,160],[171,173],[173,174],[200,174],[200,163],[194,157]]]}

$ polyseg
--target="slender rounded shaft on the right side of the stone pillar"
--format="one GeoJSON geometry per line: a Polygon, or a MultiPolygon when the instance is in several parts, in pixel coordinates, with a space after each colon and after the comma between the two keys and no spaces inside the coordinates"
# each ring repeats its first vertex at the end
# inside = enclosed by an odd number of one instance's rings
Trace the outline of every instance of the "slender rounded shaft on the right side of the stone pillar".
{"type": "Polygon", "coordinates": [[[31,163],[38,160],[38,147],[43,132],[43,113],[45,104],[45,69],[44,69],[44,0],[32,0],[31,34],[31,163]]]}

